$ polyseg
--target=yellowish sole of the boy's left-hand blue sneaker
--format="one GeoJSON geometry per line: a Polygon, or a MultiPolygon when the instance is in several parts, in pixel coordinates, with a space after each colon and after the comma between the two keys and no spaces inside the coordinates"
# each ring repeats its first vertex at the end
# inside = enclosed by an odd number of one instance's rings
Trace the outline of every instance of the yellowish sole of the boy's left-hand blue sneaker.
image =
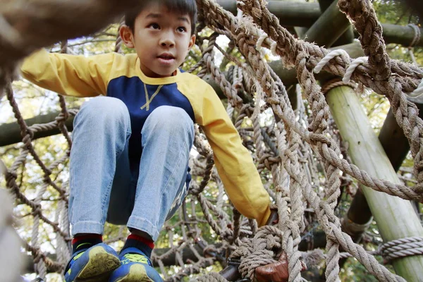
{"type": "Polygon", "coordinates": [[[75,282],[106,282],[111,272],[121,265],[118,257],[109,254],[100,246],[93,247],[88,255],[90,259],[76,277],[75,282]]]}

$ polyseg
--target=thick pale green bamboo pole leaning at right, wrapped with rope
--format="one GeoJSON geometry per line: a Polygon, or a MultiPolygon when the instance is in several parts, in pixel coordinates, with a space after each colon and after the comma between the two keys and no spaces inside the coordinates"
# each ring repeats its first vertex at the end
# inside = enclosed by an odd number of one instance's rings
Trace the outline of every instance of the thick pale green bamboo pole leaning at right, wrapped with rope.
{"type": "MultiPolygon", "coordinates": [[[[326,99],[343,140],[348,142],[348,152],[353,163],[370,176],[400,183],[353,89],[347,86],[336,87],[328,92],[326,99]]],[[[362,192],[385,243],[423,236],[423,227],[410,201],[367,187],[362,187],[362,192]]],[[[407,281],[421,281],[422,255],[396,259],[392,264],[396,273],[407,281]]]]}

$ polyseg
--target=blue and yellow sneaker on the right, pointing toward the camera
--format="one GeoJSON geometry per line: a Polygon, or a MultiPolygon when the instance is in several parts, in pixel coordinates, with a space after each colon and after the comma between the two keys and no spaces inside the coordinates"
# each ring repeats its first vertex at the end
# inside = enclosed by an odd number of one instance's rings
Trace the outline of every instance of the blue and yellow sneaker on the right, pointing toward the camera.
{"type": "Polygon", "coordinates": [[[137,248],[126,248],[119,258],[121,266],[111,274],[109,282],[163,282],[149,258],[137,248]]]}

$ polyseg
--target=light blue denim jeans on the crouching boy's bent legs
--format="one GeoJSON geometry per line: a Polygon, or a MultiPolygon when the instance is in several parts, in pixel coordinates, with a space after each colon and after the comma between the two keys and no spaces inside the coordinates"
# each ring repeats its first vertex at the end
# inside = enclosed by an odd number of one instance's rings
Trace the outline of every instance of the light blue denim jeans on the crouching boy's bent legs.
{"type": "Polygon", "coordinates": [[[160,106],[142,128],[142,156],[130,166],[128,108],[95,97],[75,116],[71,149],[69,217],[72,235],[102,234],[104,223],[126,224],[157,240],[161,226],[187,195],[194,138],[188,114],[160,106]]]}

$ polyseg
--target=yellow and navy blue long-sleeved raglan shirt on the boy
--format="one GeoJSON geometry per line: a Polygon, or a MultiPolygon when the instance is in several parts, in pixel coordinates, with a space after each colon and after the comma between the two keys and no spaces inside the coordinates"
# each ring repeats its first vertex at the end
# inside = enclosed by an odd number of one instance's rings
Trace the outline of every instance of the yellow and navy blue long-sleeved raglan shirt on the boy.
{"type": "Polygon", "coordinates": [[[59,94],[121,99],[130,113],[133,134],[130,158],[140,159],[141,129],[158,106],[184,109],[202,126],[214,152],[214,162],[226,192],[241,214],[264,225],[270,215],[264,190],[252,157],[213,88],[190,73],[177,70],[168,78],[149,78],[136,54],[74,56],[37,51],[21,66],[23,77],[59,94]]]}

